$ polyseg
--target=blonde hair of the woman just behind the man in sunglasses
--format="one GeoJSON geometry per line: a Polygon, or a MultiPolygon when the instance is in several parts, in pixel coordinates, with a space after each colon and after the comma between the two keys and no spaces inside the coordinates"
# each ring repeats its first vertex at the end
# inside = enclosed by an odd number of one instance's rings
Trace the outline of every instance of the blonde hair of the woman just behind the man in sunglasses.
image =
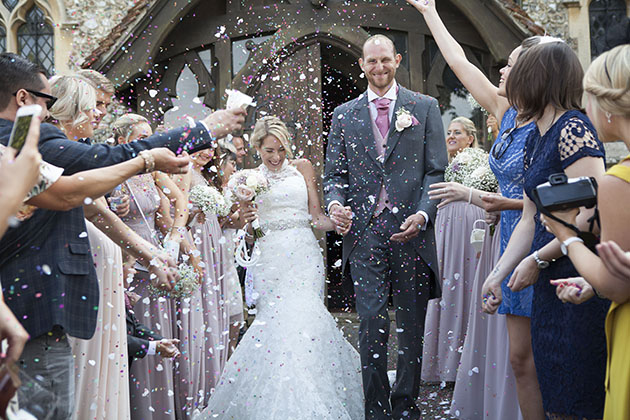
{"type": "Polygon", "coordinates": [[[50,79],[50,90],[57,101],[50,115],[61,123],[72,127],[89,121],[86,112],[96,109],[96,90],[83,77],[76,74],[54,76],[50,79]]]}

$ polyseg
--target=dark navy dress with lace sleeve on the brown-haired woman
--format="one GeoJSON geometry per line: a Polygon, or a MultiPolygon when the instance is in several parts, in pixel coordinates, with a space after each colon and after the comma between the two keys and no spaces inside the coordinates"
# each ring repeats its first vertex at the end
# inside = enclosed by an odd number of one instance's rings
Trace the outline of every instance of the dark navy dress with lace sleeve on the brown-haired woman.
{"type": "MultiPolygon", "coordinates": [[[[524,189],[533,189],[549,175],[584,157],[604,158],[604,147],[588,118],[568,111],[545,133],[530,135],[525,147],[524,189]],[[541,158],[544,157],[544,158],[541,158]]],[[[536,214],[532,251],[554,239],[536,214]]],[[[567,257],[542,270],[534,284],[532,347],[547,413],[601,419],[604,410],[606,339],[604,321],[609,301],[597,297],[581,305],[563,304],[549,280],[578,276],[567,257]]]]}

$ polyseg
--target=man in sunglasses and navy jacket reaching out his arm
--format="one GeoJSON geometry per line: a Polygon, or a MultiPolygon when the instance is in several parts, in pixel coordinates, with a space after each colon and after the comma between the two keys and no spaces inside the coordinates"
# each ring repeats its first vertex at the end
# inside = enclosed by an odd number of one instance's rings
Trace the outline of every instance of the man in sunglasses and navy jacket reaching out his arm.
{"type": "MultiPolygon", "coordinates": [[[[45,75],[28,60],[0,54],[0,143],[9,141],[13,121],[22,106],[43,109],[54,98],[45,75]]],[[[44,112],[47,114],[47,112],[44,112]]],[[[174,154],[195,152],[240,130],[245,111],[217,111],[189,126],[133,143],[87,145],[68,140],[58,128],[42,124],[42,159],[64,168],[64,175],[124,162],[138,155],[153,167],[145,150],[166,147],[174,154]]],[[[0,239],[0,281],[4,298],[30,335],[21,368],[36,372],[57,394],[55,419],[70,419],[74,411],[72,352],[67,335],[89,339],[94,334],[99,286],[94,270],[83,207],[69,211],[38,209],[0,239]]]]}

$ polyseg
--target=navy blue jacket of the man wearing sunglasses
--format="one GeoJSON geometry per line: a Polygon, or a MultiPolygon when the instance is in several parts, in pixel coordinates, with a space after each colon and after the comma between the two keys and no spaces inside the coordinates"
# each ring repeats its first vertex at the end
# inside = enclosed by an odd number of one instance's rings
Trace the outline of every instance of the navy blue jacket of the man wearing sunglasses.
{"type": "MultiPolygon", "coordinates": [[[[0,119],[0,143],[8,143],[12,126],[12,121],[0,119]]],[[[74,142],[58,128],[42,124],[39,151],[45,161],[64,168],[64,175],[72,175],[124,162],[146,149],[192,153],[211,142],[200,123],[118,146],[74,142]]],[[[0,281],[7,305],[31,337],[60,325],[73,337],[91,338],[99,288],[83,208],[38,209],[10,228],[0,240],[0,281]]]]}

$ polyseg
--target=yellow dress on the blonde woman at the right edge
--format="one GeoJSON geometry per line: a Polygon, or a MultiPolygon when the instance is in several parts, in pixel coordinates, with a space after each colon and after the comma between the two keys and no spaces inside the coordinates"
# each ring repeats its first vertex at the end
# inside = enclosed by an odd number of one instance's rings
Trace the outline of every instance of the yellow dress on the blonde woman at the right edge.
{"type": "MultiPolygon", "coordinates": [[[[630,156],[624,160],[630,160],[630,156]]],[[[607,172],[630,183],[630,167],[615,165],[607,172]]],[[[630,302],[610,306],[606,317],[606,405],[604,420],[630,420],[630,302]]]]}

